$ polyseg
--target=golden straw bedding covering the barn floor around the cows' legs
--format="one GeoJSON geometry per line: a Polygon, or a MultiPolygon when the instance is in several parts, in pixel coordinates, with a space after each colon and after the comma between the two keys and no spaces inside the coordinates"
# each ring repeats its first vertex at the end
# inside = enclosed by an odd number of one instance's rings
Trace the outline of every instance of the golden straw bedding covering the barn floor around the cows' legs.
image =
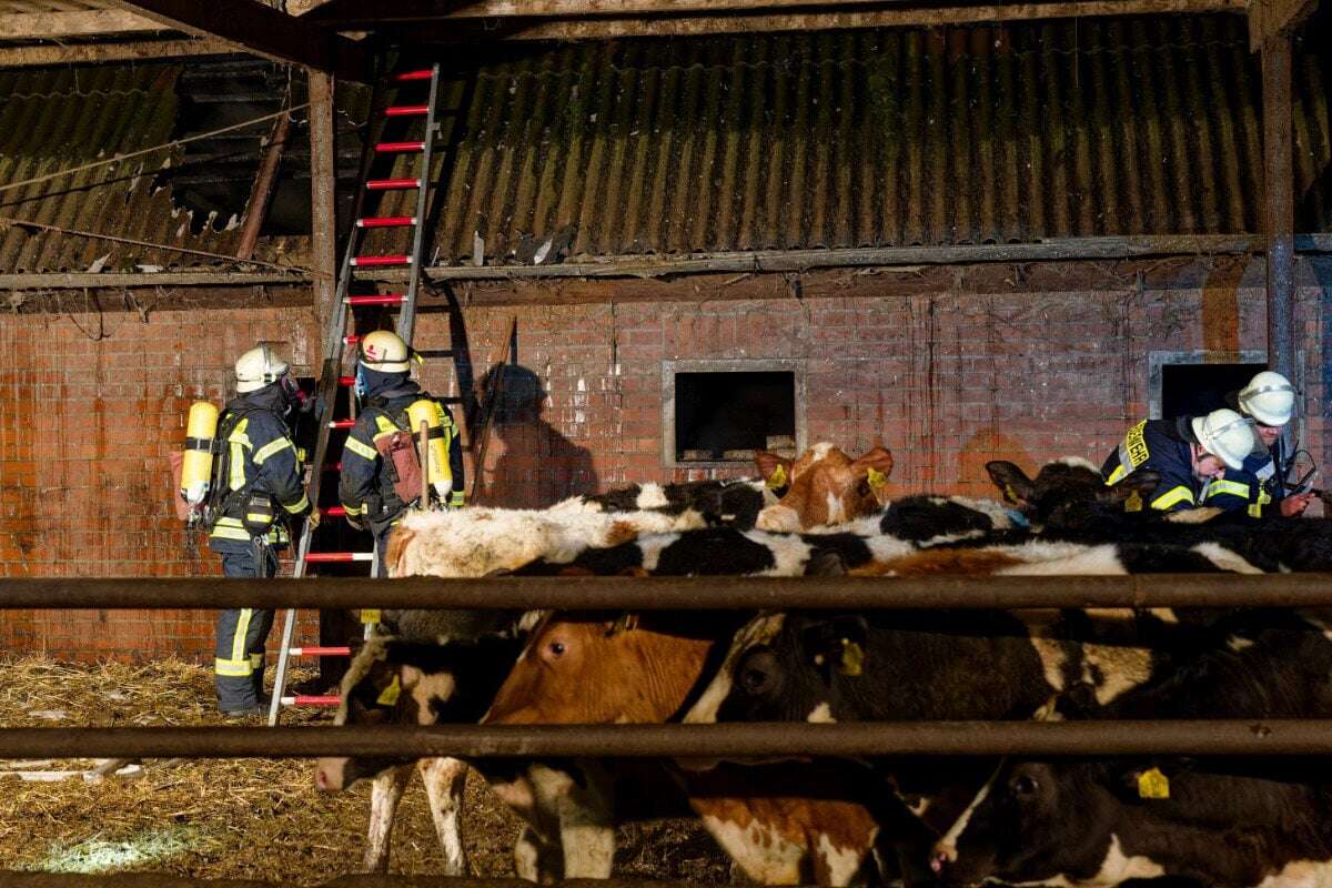
{"type": "MultiPolygon", "coordinates": [[[[298,723],[328,719],[312,711],[288,716],[298,723]]],[[[3,727],[221,723],[212,674],[196,664],[0,660],[3,727]]],[[[100,783],[0,779],[0,869],[157,871],[316,884],[358,868],[369,789],[358,784],[350,792],[324,795],[314,789],[309,762],[269,759],[151,759],[137,777],[100,783]]],[[[513,875],[510,851],[518,829],[513,813],[472,775],[464,841],[476,875],[513,875]]],[[[697,823],[631,825],[621,829],[617,848],[619,875],[729,879],[726,859],[697,823]]],[[[441,864],[425,792],[414,779],[394,825],[393,872],[432,873],[441,864]]]]}

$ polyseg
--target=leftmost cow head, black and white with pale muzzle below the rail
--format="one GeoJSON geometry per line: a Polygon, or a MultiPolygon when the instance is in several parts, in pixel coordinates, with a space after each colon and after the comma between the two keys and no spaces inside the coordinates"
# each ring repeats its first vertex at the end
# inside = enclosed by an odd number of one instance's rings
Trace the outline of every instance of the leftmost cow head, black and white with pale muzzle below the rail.
{"type": "MultiPolygon", "coordinates": [[[[518,647],[519,642],[505,635],[444,643],[370,639],[342,678],[342,703],[334,723],[476,722],[518,647]]],[[[314,771],[314,781],[320,789],[337,792],[412,760],[412,756],[324,758],[314,771]]]]}

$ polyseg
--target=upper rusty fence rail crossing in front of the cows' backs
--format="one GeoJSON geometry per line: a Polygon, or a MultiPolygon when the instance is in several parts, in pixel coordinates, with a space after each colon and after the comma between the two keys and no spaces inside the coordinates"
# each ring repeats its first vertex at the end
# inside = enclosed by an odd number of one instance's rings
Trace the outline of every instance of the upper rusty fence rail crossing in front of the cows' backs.
{"type": "Polygon", "coordinates": [[[0,608],[822,610],[1323,607],[1332,574],[0,579],[0,608]]]}

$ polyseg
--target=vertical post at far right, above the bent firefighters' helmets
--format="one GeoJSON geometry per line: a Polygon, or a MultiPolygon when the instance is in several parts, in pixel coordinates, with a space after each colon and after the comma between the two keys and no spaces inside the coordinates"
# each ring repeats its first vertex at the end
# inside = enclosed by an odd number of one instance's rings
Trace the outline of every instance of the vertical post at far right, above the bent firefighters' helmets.
{"type": "Polygon", "coordinates": [[[1295,379],[1295,178],[1291,37],[1263,40],[1263,166],[1267,241],[1267,362],[1295,379]]]}

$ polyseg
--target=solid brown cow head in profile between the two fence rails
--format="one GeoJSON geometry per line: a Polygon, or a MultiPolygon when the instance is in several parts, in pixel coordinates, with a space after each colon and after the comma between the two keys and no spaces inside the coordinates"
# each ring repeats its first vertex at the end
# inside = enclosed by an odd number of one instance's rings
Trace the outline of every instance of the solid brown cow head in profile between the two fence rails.
{"type": "Polygon", "coordinates": [[[549,618],[527,639],[485,722],[665,722],[685,703],[714,644],[686,616],[549,618]]]}

